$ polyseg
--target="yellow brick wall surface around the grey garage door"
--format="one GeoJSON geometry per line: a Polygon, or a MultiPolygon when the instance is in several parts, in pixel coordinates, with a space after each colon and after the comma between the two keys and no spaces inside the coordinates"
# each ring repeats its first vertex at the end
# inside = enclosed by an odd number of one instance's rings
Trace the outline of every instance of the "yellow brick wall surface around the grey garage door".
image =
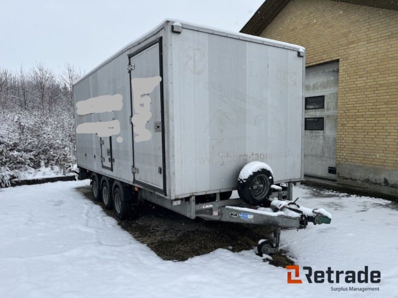
{"type": "Polygon", "coordinates": [[[398,169],[398,11],[292,0],[260,36],[339,60],[337,163],[398,169]]]}

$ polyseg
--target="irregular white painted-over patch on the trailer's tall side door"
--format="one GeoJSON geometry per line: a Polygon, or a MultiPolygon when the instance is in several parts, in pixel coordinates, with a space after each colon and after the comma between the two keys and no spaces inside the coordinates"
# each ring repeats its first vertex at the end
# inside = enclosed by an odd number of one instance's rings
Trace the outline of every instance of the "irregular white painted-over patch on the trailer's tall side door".
{"type": "Polygon", "coordinates": [[[151,97],[149,94],[159,85],[162,78],[158,76],[152,77],[134,77],[131,79],[131,88],[133,93],[134,115],[131,122],[134,125],[134,141],[144,142],[152,138],[151,132],[145,127],[151,113],[151,97]]]}

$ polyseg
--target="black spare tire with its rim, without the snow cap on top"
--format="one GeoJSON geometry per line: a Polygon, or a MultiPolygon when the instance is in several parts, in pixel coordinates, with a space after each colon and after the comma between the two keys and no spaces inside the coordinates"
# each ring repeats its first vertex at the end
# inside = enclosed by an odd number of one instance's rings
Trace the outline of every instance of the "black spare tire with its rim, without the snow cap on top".
{"type": "Polygon", "coordinates": [[[239,197],[251,206],[259,206],[268,202],[271,185],[274,184],[274,177],[266,169],[260,169],[252,173],[246,180],[239,180],[239,197]]]}

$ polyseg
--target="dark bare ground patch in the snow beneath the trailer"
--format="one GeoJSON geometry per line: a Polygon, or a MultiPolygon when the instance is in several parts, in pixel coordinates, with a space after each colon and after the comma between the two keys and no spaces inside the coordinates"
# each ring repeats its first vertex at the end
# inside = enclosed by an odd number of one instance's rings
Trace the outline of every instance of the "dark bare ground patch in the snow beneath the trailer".
{"type": "MultiPolygon", "coordinates": [[[[217,248],[232,252],[253,249],[255,253],[258,240],[269,239],[272,235],[270,226],[191,220],[150,203],[141,206],[137,216],[121,221],[113,210],[107,210],[102,202],[93,200],[91,187],[80,187],[78,190],[164,260],[185,261],[217,248]]],[[[284,251],[273,255],[273,260],[266,261],[280,267],[293,264],[284,251]]]]}

